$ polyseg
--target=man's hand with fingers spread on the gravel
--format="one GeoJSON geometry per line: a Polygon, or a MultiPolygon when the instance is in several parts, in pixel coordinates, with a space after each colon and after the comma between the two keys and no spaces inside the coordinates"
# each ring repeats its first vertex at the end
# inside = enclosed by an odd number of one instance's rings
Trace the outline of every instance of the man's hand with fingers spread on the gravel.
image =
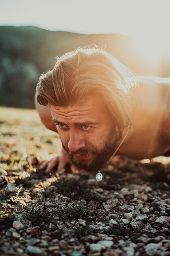
{"type": "MultiPolygon", "coordinates": [[[[68,154],[62,150],[60,154],[57,154],[56,157],[53,157],[50,160],[43,160],[38,164],[40,170],[45,170],[46,173],[50,173],[57,168],[57,172],[60,172],[65,165],[70,162],[68,154]]],[[[55,170],[56,171],[56,170],[55,170]]]]}

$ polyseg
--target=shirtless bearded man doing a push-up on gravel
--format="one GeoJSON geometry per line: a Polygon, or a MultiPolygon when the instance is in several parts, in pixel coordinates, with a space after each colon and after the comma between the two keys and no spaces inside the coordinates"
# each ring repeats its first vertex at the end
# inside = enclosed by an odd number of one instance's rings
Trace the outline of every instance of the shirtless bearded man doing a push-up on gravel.
{"type": "Polygon", "coordinates": [[[170,150],[170,79],[134,76],[98,47],[78,48],[41,75],[35,105],[43,124],[59,133],[63,150],[39,168],[71,161],[98,171],[115,153],[134,159],[170,150]],[[136,86],[137,85],[137,86],[136,86]]]}

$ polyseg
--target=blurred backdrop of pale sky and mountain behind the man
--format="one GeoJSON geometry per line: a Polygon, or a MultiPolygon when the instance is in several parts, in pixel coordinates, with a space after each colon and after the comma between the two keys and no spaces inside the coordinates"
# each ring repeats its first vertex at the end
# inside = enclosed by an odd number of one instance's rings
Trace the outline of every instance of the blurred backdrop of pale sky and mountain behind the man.
{"type": "Polygon", "coordinates": [[[56,56],[105,45],[137,75],[170,77],[169,0],[0,0],[0,106],[35,108],[56,56]]]}

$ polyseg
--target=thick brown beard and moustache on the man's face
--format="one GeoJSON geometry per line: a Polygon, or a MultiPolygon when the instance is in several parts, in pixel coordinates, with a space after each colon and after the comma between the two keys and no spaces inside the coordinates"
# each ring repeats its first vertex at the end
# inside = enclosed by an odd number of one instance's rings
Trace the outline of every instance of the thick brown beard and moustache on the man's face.
{"type": "Polygon", "coordinates": [[[116,145],[118,142],[118,136],[116,131],[111,131],[107,138],[105,139],[102,148],[100,149],[79,149],[77,151],[70,151],[68,147],[63,145],[64,150],[68,153],[68,157],[72,164],[78,169],[83,169],[85,171],[96,172],[104,168],[109,159],[112,157],[116,150],[116,145]],[[89,156],[87,159],[79,160],[75,159],[74,154],[81,156],[89,156]]]}

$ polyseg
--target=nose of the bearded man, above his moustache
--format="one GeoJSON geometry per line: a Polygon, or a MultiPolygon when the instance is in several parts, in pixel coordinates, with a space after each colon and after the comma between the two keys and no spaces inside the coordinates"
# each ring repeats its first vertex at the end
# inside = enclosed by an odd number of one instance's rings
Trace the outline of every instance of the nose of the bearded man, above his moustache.
{"type": "Polygon", "coordinates": [[[70,133],[70,138],[68,142],[68,148],[74,152],[78,149],[85,147],[85,141],[83,137],[78,133],[70,133]]]}

